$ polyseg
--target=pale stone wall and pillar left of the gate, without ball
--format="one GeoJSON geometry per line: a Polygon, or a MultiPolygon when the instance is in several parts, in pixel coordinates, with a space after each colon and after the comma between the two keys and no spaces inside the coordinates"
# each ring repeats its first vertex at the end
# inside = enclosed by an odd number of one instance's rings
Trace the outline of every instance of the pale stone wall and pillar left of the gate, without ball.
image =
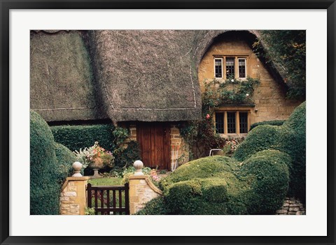
{"type": "Polygon", "coordinates": [[[86,186],[89,177],[67,177],[59,198],[60,214],[85,214],[86,186]]]}

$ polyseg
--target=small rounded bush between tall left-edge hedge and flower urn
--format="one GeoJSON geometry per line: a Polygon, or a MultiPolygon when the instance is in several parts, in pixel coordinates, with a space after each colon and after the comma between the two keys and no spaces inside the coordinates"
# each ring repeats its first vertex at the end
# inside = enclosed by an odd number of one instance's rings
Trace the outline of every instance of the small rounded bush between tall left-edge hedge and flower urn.
{"type": "Polygon", "coordinates": [[[58,162],[58,178],[62,182],[66,177],[71,176],[72,164],[76,161],[76,156],[63,144],[59,143],[55,143],[55,154],[58,162]]]}

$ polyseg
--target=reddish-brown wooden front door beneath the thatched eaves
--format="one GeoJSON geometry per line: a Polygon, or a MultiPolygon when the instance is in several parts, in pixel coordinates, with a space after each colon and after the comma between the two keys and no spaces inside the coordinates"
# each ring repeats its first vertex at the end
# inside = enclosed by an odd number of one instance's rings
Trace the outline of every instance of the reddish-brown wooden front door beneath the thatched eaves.
{"type": "Polygon", "coordinates": [[[139,123],[137,141],[145,167],[170,170],[170,127],[166,123],[139,123]]]}

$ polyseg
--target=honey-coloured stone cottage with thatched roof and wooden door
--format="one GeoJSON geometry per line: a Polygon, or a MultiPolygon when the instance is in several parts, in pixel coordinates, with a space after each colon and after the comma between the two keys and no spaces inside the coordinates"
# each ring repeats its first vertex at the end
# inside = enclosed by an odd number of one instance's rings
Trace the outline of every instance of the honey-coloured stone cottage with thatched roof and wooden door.
{"type": "Polygon", "coordinates": [[[253,104],[214,112],[223,137],[286,119],[300,104],[285,98],[281,71],[253,53],[257,39],[258,31],[31,31],[30,106],[50,125],[130,128],[145,165],[169,170],[173,146],[184,149],[178,125],[201,119],[204,82],[260,79],[253,104]]]}

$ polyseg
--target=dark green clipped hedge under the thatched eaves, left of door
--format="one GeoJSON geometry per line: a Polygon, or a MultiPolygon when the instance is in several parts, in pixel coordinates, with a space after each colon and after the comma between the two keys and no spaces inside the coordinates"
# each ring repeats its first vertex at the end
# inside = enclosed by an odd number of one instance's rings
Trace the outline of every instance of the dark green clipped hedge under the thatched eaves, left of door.
{"type": "Polygon", "coordinates": [[[90,147],[94,142],[111,151],[114,149],[115,136],[112,124],[97,124],[87,126],[52,126],[55,141],[64,144],[71,151],[90,147]]]}

